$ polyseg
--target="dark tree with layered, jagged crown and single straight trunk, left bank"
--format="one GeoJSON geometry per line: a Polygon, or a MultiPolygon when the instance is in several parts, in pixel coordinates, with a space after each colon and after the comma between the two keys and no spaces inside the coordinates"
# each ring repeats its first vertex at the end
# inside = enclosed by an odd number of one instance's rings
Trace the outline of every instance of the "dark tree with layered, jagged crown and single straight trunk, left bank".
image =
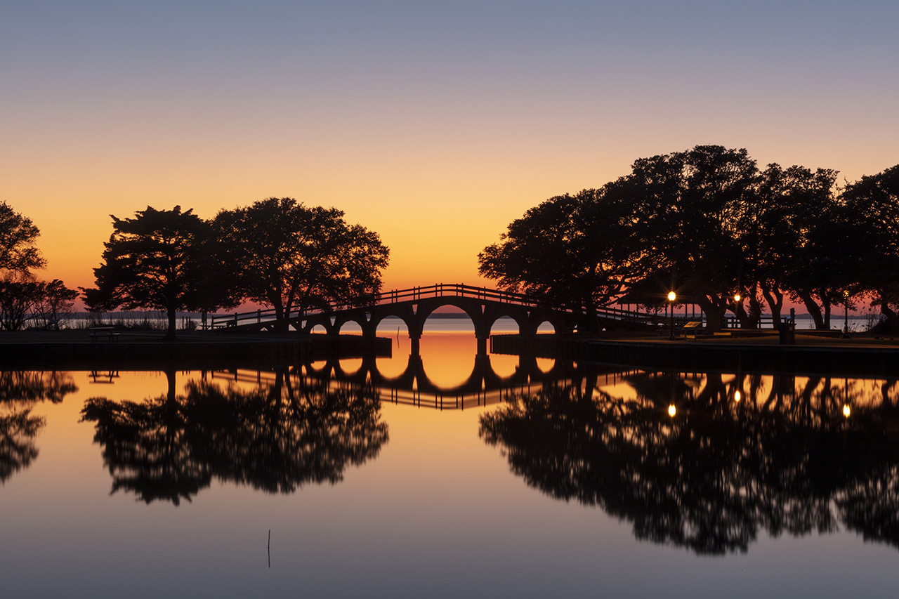
{"type": "MultiPolygon", "coordinates": [[[[138,210],[133,219],[112,217],[113,232],[103,250],[103,264],[93,269],[95,289],[83,290],[92,309],[155,308],[168,317],[166,338],[175,335],[175,312],[206,308],[217,303],[209,298],[209,279],[217,273],[204,271],[209,256],[203,255],[202,240],[209,236],[209,223],[193,214],[173,210],[138,210]]],[[[219,298],[216,298],[219,299],[219,298]]],[[[219,301],[227,303],[227,298],[219,301]]]]}

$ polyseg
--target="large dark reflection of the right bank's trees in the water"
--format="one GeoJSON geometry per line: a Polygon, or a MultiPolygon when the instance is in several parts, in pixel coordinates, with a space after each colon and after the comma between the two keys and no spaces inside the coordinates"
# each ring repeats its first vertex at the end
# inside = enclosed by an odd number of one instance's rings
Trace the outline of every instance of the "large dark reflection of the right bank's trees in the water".
{"type": "Polygon", "coordinates": [[[768,379],[640,373],[629,399],[547,387],[482,416],[480,434],[531,487],[599,505],[638,539],[724,554],[760,530],[842,525],[899,547],[895,381],[871,396],[866,381],[768,379]]]}

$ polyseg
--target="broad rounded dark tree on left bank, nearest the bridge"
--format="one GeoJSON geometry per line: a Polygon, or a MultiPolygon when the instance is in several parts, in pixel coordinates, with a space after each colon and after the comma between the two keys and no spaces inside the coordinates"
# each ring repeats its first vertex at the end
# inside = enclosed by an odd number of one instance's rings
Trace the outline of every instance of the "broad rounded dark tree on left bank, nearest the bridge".
{"type": "Polygon", "coordinates": [[[278,321],[294,310],[365,305],[380,292],[387,247],[341,210],[269,198],[220,211],[215,228],[246,298],[274,308],[278,321]]]}

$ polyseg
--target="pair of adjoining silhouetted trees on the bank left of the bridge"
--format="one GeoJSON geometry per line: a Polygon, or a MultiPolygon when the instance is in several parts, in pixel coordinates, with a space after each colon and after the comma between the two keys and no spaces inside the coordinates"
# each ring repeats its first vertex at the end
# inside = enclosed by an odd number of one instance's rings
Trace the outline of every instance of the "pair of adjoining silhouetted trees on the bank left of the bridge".
{"type": "Polygon", "coordinates": [[[349,225],[334,208],[269,198],[221,210],[215,219],[173,210],[112,217],[113,233],[83,290],[92,309],[156,308],[175,312],[233,308],[252,299],[275,309],[286,330],[291,311],[363,305],[378,294],[388,250],[377,233],[349,225]]]}

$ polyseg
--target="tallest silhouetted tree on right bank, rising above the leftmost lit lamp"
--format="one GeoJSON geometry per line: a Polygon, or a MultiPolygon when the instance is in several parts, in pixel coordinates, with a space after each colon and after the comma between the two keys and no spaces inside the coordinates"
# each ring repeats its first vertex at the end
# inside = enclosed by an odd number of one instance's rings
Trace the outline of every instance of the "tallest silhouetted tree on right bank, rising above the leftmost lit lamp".
{"type": "Polygon", "coordinates": [[[631,174],[606,186],[631,206],[637,272],[671,273],[676,287],[690,289],[712,330],[736,309],[734,292],[752,281],[742,223],[753,210],[757,179],[745,149],[697,146],[640,158],[631,174]]]}

